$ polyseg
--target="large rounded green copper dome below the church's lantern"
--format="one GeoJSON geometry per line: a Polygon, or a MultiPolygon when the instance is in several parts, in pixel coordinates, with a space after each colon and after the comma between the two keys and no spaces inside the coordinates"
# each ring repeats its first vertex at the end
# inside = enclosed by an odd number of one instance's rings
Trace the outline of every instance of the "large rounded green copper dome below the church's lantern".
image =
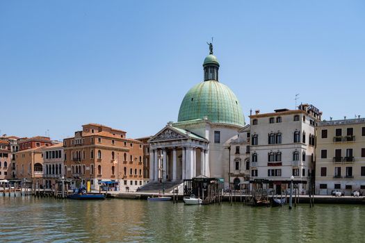
{"type": "Polygon", "coordinates": [[[212,122],[245,126],[245,117],[236,95],[218,81],[209,80],[195,85],[181,103],[178,121],[204,117],[212,122]]]}

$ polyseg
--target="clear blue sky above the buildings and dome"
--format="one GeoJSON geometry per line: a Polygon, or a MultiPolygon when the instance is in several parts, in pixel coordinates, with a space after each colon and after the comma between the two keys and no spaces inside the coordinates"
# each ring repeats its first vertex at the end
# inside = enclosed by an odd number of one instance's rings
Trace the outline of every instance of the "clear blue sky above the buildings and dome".
{"type": "Polygon", "coordinates": [[[89,122],[153,135],[202,81],[246,120],[313,103],[365,116],[365,1],[0,1],[1,133],[62,139],[89,122]]]}

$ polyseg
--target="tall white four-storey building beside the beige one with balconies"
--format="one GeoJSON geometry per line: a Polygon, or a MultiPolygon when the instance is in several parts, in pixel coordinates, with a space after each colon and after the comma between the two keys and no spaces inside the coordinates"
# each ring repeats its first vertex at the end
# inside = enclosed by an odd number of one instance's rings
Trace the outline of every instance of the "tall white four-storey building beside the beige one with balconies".
{"type": "Polygon", "coordinates": [[[251,179],[273,181],[274,190],[285,190],[291,176],[307,193],[314,168],[316,124],[322,113],[314,106],[275,110],[250,116],[251,179]]]}

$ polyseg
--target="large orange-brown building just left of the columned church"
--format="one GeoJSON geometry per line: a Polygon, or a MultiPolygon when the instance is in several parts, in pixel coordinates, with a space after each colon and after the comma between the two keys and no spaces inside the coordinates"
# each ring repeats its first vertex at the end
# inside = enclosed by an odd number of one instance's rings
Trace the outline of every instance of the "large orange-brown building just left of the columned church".
{"type": "Polygon", "coordinates": [[[99,190],[102,183],[114,190],[136,190],[143,185],[143,142],[100,124],[82,127],[74,137],[63,140],[67,178],[81,185],[90,181],[92,190],[99,190]]]}

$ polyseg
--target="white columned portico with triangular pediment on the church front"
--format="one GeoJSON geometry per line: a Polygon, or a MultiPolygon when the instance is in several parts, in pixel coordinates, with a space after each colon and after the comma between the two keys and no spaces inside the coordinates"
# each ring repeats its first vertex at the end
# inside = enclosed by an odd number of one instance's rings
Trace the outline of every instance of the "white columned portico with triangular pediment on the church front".
{"type": "Polygon", "coordinates": [[[209,176],[209,142],[183,129],[166,126],[149,140],[152,181],[182,181],[209,176]]]}

